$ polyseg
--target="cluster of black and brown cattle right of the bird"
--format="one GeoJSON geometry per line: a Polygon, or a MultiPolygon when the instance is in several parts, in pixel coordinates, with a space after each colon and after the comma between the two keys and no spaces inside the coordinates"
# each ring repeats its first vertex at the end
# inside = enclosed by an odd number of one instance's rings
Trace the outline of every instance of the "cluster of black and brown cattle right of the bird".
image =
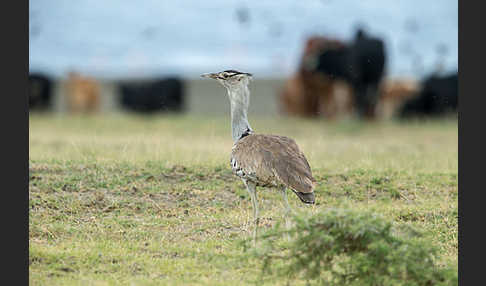
{"type": "Polygon", "coordinates": [[[307,40],[297,72],[280,92],[286,114],[335,118],[436,116],[457,111],[457,72],[412,79],[385,78],[381,39],[358,30],[352,42],[307,40]]]}

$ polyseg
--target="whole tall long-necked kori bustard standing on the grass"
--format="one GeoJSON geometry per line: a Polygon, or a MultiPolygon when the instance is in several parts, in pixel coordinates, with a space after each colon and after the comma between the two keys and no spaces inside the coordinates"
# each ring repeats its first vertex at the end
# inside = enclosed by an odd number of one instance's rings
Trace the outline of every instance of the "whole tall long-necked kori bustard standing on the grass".
{"type": "Polygon", "coordinates": [[[233,148],[231,167],[243,180],[253,204],[253,241],[258,231],[258,201],[256,187],[280,189],[285,204],[285,220],[291,211],[287,200],[287,188],[306,204],[313,204],[315,179],[304,154],[295,141],[285,136],[256,134],[248,123],[250,103],[248,84],[252,75],[236,70],[201,75],[221,83],[228,91],[231,107],[231,131],[233,148]]]}

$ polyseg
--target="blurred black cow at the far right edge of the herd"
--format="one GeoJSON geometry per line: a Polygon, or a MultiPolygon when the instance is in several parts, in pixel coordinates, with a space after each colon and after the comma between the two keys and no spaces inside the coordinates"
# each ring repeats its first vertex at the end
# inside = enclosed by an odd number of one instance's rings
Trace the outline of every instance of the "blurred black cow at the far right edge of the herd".
{"type": "Polygon", "coordinates": [[[422,83],[417,97],[411,98],[402,106],[400,117],[440,116],[457,112],[458,79],[457,73],[446,76],[432,75],[422,83]]]}

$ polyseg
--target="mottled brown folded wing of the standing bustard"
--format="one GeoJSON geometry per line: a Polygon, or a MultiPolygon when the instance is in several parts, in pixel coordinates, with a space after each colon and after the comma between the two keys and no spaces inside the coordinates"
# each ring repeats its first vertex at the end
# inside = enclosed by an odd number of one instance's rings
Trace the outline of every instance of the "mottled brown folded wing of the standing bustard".
{"type": "Polygon", "coordinates": [[[297,192],[314,191],[315,180],[309,163],[291,138],[248,135],[236,143],[232,157],[246,174],[262,182],[276,178],[297,192]]]}

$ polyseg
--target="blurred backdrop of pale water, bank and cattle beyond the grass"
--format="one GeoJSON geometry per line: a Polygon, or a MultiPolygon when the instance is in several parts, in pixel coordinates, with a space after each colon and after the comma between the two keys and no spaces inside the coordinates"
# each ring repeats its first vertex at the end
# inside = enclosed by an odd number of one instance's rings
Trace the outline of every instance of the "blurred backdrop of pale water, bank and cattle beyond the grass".
{"type": "Polygon", "coordinates": [[[457,115],[457,1],[29,4],[30,111],[228,114],[199,75],[236,69],[250,114],[457,115]]]}

